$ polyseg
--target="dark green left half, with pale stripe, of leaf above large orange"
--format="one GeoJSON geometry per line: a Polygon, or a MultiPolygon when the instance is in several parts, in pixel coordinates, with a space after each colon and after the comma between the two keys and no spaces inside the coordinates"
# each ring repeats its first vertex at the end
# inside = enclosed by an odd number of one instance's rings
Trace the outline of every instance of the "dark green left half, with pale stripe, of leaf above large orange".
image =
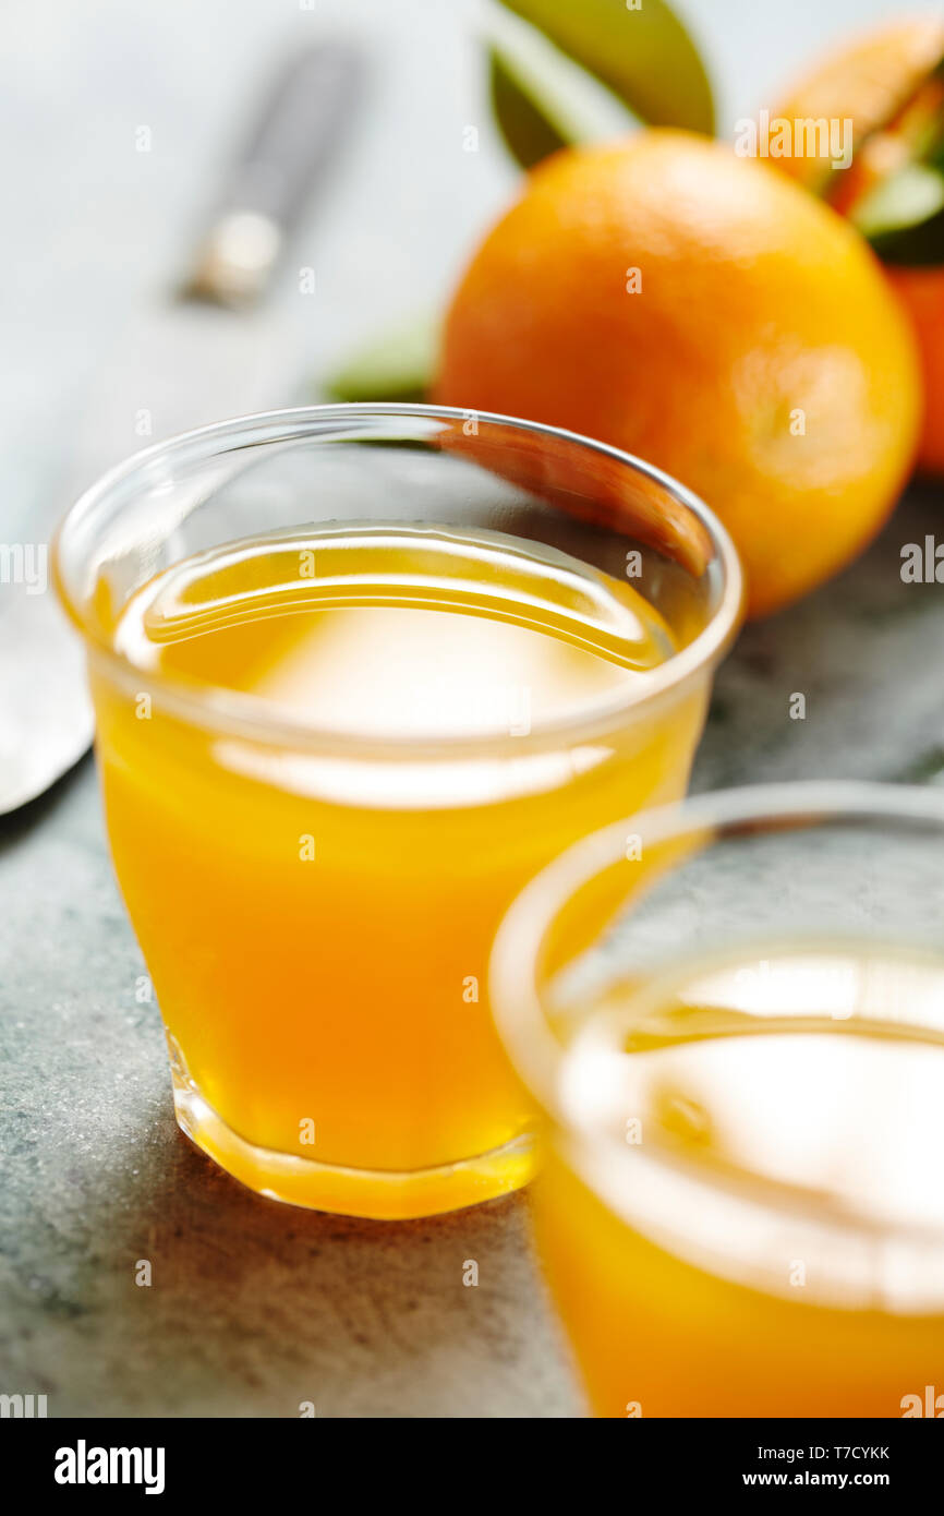
{"type": "Polygon", "coordinates": [[[489,8],[483,35],[495,121],[523,168],[559,147],[639,124],[609,89],[518,17],[489,8]]]}

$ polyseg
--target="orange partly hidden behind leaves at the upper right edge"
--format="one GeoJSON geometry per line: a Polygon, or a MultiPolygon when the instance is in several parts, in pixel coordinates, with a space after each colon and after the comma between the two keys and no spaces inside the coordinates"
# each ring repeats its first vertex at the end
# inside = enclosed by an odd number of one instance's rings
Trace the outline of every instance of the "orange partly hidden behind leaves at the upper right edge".
{"type": "MultiPolygon", "coordinates": [[[[929,118],[941,117],[944,58],[939,17],[903,17],[838,49],[791,89],[776,114],[788,120],[852,118],[853,165],[830,174],[815,159],[777,167],[824,194],[842,214],[912,158],[929,118]]],[[[944,473],[944,267],[888,265],[888,277],[918,340],[924,377],[924,429],[918,464],[944,473]]]]}

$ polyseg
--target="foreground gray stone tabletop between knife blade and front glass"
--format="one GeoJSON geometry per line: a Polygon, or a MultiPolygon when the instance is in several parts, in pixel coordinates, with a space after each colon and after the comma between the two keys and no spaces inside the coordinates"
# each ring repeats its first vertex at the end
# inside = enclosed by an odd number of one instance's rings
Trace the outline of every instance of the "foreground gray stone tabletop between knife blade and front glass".
{"type": "Polygon", "coordinates": [[[0,1384],[61,1416],[571,1410],[521,1202],[414,1225],[314,1216],[256,1199],[179,1134],[91,761],[0,847],[0,1384]]]}

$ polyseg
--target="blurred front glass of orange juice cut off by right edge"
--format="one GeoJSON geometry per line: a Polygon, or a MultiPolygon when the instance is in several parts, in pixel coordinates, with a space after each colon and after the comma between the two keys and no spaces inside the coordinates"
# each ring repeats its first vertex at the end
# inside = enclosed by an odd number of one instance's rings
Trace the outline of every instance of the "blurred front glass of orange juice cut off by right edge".
{"type": "Polygon", "coordinates": [[[609,826],[526,887],[491,988],[594,1414],[944,1410],[939,796],[777,785],[609,826]]]}

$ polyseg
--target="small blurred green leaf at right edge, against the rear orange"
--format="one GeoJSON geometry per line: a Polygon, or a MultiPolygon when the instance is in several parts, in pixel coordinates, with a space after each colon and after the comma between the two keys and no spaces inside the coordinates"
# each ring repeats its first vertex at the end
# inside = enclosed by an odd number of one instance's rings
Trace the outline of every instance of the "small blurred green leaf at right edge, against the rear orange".
{"type": "Polygon", "coordinates": [[[852,220],[886,264],[944,262],[944,174],[908,164],[856,205],[852,220]]]}

